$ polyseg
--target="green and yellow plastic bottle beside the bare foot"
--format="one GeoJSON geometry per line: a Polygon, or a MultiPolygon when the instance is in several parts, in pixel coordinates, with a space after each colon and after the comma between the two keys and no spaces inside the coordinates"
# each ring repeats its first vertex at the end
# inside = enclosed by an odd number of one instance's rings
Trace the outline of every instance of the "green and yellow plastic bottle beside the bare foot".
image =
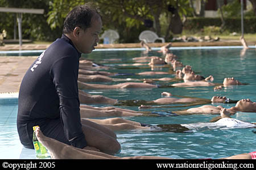
{"type": "Polygon", "coordinates": [[[42,143],[40,143],[38,141],[38,138],[36,138],[35,135],[35,129],[38,126],[33,126],[33,144],[34,144],[34,148],[35,148],[35,152],[36,152],[36,157],[38,159],[51,159],[51,156],[48,154],[48,151],[46,149],[46,147],[44,147],[42,145],[42,143]]]}

